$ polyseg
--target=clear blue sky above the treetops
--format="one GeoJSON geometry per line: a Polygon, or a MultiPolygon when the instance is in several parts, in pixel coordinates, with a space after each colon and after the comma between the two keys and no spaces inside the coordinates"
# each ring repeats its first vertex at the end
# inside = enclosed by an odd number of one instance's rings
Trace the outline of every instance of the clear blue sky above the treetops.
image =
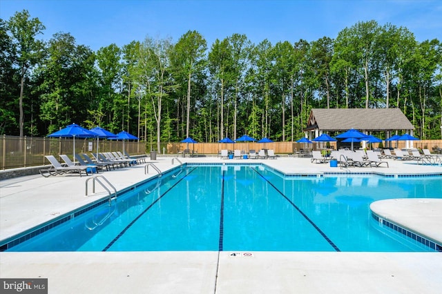
{"type": "Polygon", "coordinates": [[[27,9],[46,26],[41,39],[70,32],[77,44],[98,50],[116,43],[171,37],[197,30],[215,39],[245,34],[253,43],[336,38],[358,21],[405,26],[418,41],[442,41],[439,0],[0,0],[0,18],[27,9]]]}

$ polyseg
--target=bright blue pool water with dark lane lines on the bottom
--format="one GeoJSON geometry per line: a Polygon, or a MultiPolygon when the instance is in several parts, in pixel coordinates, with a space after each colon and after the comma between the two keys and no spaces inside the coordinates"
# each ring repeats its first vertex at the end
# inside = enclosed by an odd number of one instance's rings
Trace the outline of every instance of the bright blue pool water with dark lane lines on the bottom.
{"type": "Polygon", "coordinates": [[[8,251],[427,251],[381,229],[369,204],[441,190],[440,177],[184,166],[8,251]]]}

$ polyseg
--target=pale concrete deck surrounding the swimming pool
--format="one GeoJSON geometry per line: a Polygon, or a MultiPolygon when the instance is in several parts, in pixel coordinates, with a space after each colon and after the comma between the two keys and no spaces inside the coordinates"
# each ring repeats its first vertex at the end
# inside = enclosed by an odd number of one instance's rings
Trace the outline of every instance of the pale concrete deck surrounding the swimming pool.
{"type": "MultiPolygon", "coordinates": [[[[182,158],[184,162],[251,162],[251,159],[182,158]]],[[[279,157],[253,160],[282,173],[346,173],[310,159],[279,157]]],[[[390,168],[350,168],[350,172],[390,175],[442,173],[441,166],[410,165],[387,159],[390,168]]],[[[177,166],[171,157],[153,161],[160,170],[177,166]]],[[[153,177],[144,164],[102,173],[117,190],[153,177]]],[[[41,175],[0,181],[0,240],[8,239],[107,197],[104,190],[85,196],[88,177],[41,175]]],[[[442,180],[442,179],[441,179],[442,180]]],[[[434,191],[441,193],[441,191],[434,191]]],[[[433,202],[434,201],[434,202],[433,202]]],[[[388,204],[381,213],[395,215],[414,230],[439,238],[442,200],[427,209],[388,204]],[[432,233],[433,232],[433,233],[432,233]],[[439,234],[439,237],[438,237],[439,234]]],[[[379,211],[377,212],[379,213],[379,211]]],[[[439,239],[440,240],[440,239],[439,239]]],[[[326,252],[61,252],[0,253],[0,277],[48,278],[49,293],[440,293],[441,253],[326,252]]]]}

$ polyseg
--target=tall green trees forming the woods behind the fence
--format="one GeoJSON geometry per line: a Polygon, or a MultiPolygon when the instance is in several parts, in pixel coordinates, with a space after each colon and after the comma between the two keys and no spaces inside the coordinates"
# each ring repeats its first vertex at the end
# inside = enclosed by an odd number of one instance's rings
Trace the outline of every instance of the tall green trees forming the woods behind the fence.
{"type": "Polygon", "coordinates": [[[401,108],[422,139],[440,139],[442,46],[376,21],[336,39],[295,43],[199,32],[93,52],[66,32],[43,43],[23,10],[0,19],[0,133],[47,135],[73,122],[128,130],[160,150],[191,136],[244,133],[293,141],[311,108],[401,108]]]}

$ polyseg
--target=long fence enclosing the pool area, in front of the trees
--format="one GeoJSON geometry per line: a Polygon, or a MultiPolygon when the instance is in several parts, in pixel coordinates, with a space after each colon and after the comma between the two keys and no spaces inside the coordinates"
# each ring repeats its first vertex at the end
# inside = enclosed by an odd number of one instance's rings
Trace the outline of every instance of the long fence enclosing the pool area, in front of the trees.
{"type": "MultiPolygon", "coordinates": [[[[385,144],[385,141],[383,142],[385,144]]],[[[336,149],[336,142],[329,144],[336,149]]],[[[273,149],[277,154],[294,153],[294,150],[309,148],[318,150],[324,148],[325,143],[302,144],[296,142],[238,142],[238,143],[162,143],[158,154],[178,155],[186,148],[198,152],[199,155],[218,155],[222,149],[249,150],[273,149]]],[[[384,145],[385,146],[385,145],[384,145]]],[[[393,141],[392,147],[405,148],[405,141],[393,141]]],[[[442,140],[420,140],[413,141],[414,148],[442,148],[442,140]]],[[[373,148],[378,148],[378,144],[373,144],[373,148]]],[[[146,154],[146,142],[144,141],[124,141],[124,149],[131,155],[146,154]]],[[[123,141],[99,140],[99,151],[123,150],[123,141]]],[[[75,139],[75,153],[96,153],[96,139],[75,139]]],[[[23,168],[28,166],[41,166],[48,164],[44,155],[66,154],[73,157],[73,139],[68,138],[48,138],[48,137],[17,137],[0,136],[0,169],[23,168]]]]}

